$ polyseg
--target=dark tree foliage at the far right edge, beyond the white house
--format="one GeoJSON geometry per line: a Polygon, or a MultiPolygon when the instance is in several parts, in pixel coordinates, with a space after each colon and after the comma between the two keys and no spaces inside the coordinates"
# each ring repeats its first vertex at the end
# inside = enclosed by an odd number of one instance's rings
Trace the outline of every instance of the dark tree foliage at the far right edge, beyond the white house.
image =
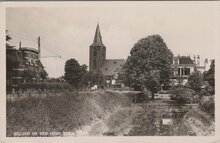
{"type": "Polygon", "coordinates": [[[212,95],[215,94],[215,60],[212,60],[210,69],[203,73],[204,81],[207,81],[213,88],[212,95]]]}

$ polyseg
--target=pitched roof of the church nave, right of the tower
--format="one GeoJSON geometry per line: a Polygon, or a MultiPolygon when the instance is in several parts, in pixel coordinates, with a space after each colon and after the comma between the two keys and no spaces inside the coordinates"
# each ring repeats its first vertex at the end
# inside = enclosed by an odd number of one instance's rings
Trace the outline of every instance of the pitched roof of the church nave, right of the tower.
{"type": "Polygon", "coordinates": [[[122,69],[122,65],[125,63],[124,59],[108,59],[102,64],[101,71],[104,76],[112,76],[118,73],[122,69]]]}

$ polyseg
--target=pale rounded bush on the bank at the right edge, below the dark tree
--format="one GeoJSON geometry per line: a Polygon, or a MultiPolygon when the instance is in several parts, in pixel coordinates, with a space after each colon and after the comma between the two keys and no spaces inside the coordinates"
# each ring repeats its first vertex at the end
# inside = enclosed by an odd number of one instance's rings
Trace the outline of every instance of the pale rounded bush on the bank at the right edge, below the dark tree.
{"type": "Polygon", "coordinates": [[[200,101],[200,108],[202,111],[210,114],[211,116],[215,115],[215,100],[214,96],[204,96],[200,101]]]}

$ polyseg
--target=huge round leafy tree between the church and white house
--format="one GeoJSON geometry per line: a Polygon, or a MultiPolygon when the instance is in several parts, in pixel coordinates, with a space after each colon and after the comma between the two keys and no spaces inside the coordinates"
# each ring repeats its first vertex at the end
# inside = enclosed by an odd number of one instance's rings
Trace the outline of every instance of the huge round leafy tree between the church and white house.
{"type": "Polygon", "coordinates": [[[173,54],[160,35],[143,38],[130,51],[123,66],[122,81],[135,90],[146,86],[154,98],[160,84],[169,84],[172,59],[173,54]]]}

